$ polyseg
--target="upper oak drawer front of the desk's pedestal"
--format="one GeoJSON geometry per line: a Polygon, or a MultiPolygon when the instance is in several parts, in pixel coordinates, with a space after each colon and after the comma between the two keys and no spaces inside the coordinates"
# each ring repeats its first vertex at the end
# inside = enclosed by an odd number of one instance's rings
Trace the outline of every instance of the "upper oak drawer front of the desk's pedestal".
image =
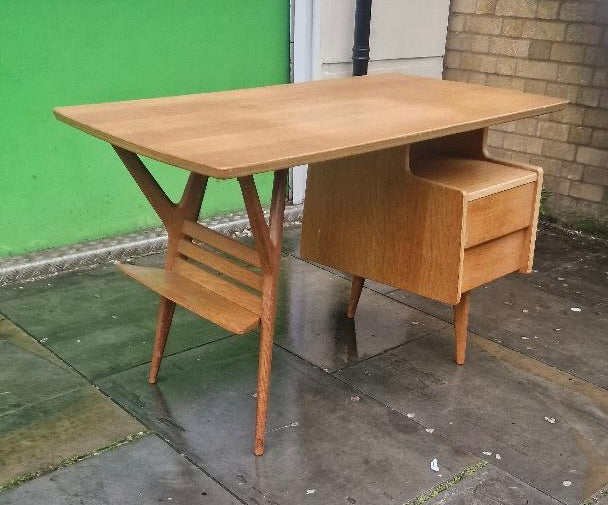
{"type": "Polygon", "coordinates": [[[532,224],[536,183],[501,191],[467,205],[465,248],[532,224]]]}

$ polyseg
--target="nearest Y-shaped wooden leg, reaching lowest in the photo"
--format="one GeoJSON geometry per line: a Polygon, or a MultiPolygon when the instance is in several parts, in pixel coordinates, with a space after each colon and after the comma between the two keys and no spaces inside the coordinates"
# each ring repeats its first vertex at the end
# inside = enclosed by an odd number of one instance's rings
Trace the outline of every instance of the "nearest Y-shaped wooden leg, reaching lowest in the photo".
{"type": "Polygon", "coordinates": [[[245,207],[249,215],[251,231],[260,253],[264,282],[262,286],[262,314],[260,316],[260,350],[258,357],[257,405],[255,414],[254,454],[264,454],[266,438],[266,412],[270,389],[270,368],[272,344],[276,316],[279,265],[281,261],[281,240],[283,238],[283,214],[285,211],[285,188],[287,170],[274,174],[272,202],[270,205],[270,227],[264,221],[257,191],[252,177],[239,178],[245,207]]]}

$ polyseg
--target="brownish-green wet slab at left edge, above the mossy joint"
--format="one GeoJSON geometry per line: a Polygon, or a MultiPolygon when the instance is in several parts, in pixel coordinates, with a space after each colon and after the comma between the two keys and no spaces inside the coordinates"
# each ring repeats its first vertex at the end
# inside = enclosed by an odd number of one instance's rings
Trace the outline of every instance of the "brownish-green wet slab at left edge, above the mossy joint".
{"type": "Polygon", "coordinates": [[[0,485],[143,429],[92,386],[13,410],[0,416],[0,485]]]}

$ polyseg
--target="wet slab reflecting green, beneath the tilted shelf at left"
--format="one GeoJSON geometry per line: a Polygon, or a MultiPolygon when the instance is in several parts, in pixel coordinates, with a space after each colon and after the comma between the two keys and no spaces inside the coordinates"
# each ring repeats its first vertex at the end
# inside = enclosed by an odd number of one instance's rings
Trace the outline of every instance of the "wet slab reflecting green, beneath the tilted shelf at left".
{"type": "MultiPolygon", "coordinates": [[[[160,265],[162,255],[137,260],[160,265]]],[[[7,288],[0,310],[89,379],[149,362],[158,295],[113,266],[7,288]]],[[[166,352],[229,333],[178,307],[166,352]]]]}

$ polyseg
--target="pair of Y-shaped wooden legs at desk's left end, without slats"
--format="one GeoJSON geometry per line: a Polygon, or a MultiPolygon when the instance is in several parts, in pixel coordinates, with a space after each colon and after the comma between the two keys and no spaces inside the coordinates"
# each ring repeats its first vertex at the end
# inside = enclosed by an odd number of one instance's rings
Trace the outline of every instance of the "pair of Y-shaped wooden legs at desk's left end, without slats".
{"type": "MultiPolygon", "coordinates": [[[[186,237],[184,223],[196,223],[205,196],[208,177],[194,172],[190,173],[180,201],[173,203],[137,154],[117,146],[113,147],[167,230],[168,242],[164,269],[171,272],[177,263],[184,260],[183,249],[181,249],[180,245],[186,237]]],[[[254,446],[254,454],[260,456],[264,453],[266,434],[266,412],[268,407],[278,275],[283,236],[287,169],[277,170],[274,173],[268,224],[266,224],[266,220],[264,219],[264,213],[260,205],[253,176],[238,177],[238,181],[243,194],[255,242],[255,251],[259,256],[261,269],[260,342],[254,446]]],[[[201,226],[201,228],[203,227],[201,226]]],[[[230,239],[222,239],[222,241],[226,240],[230,239]]],[[[152,362],[150,365],[149,382],[151,384],[156,383],[158,377],[175,305],[175,301],[161,295],[156,320],[152,362]]]]}

